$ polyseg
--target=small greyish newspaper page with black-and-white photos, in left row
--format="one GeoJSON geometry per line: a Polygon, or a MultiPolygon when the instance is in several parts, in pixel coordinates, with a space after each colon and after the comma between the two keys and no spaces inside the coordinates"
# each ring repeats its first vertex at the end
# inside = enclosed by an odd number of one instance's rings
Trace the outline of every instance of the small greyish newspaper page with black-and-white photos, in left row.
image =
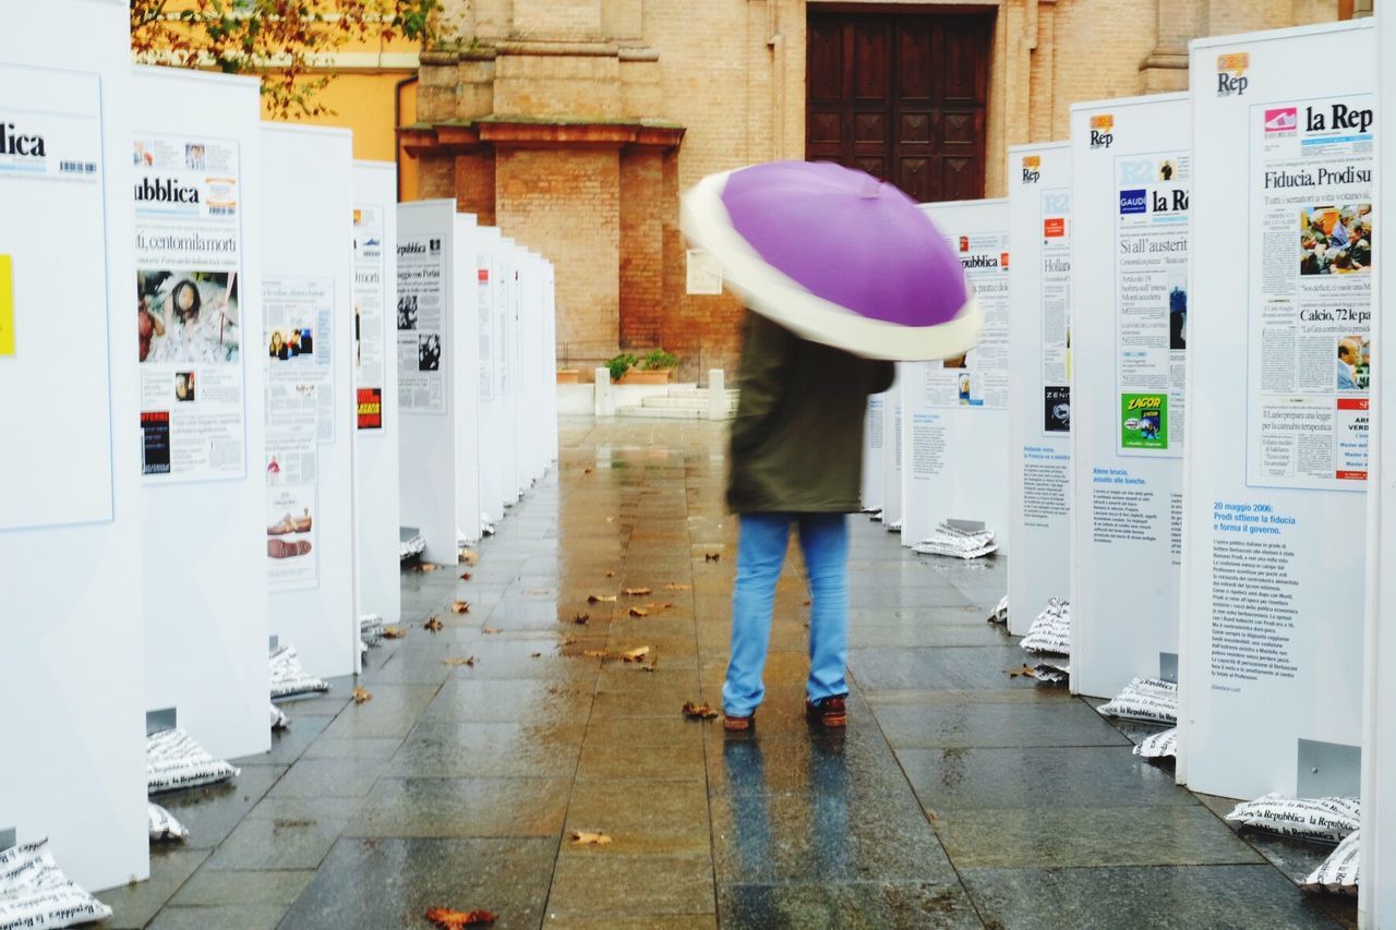
{"type": "Polygon", "coordinates": [[[434,236],[398,242],[398,404],[409,413],[445,412],[445,251],[434,236]]]}

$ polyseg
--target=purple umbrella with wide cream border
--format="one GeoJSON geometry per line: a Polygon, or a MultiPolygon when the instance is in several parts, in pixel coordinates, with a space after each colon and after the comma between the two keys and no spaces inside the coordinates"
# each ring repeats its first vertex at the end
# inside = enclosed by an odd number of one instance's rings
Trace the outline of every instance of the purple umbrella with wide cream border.
{"type": "Polygon", "coordinates": [[[683,229],[757,313],[870,359],[970,349],[981,314],[945,236],[910,197],[828,162],[709,175],[683,229]]]}

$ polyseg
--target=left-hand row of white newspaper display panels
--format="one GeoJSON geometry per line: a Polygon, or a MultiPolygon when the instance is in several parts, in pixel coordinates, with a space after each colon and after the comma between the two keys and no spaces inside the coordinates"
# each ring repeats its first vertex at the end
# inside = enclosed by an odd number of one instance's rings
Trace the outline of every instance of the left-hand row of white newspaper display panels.
{"type": "Polygon", "coordinates": [[[546,472],[553,270],[54,1],[61,43],[52,8],[0,34],[0,390],[34,398],[0,415],[0,850],[105,888],[149,871],[170,747],[267,751],[278,669],[350,676],[399,621],[405,525],[454,564],[546,472]]]}

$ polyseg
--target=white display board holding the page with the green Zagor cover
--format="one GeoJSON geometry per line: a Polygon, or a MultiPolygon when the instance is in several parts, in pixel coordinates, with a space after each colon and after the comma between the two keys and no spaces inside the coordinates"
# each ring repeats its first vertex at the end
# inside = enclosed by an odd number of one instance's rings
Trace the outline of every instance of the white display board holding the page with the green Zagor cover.
{"type": "Polygon", "coordinates": [[[1187,299],[1185,94],[1071,110],[1071,686],[1114,697],[1175,679],[1187,299]],[[1171,303],[1170,303],[1171,302],[1171,303]]]}

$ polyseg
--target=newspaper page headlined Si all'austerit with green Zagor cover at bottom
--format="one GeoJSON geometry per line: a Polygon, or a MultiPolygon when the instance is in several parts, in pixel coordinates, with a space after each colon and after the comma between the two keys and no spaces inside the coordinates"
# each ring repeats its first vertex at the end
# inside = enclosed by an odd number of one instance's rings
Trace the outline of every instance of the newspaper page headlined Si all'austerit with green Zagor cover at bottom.
{"type": "Polygon", "coordinates": [[[1188,348],[1187,151],[1115,159],[1115,395],[1122,455],[1182,455],[1188,348]]]}

